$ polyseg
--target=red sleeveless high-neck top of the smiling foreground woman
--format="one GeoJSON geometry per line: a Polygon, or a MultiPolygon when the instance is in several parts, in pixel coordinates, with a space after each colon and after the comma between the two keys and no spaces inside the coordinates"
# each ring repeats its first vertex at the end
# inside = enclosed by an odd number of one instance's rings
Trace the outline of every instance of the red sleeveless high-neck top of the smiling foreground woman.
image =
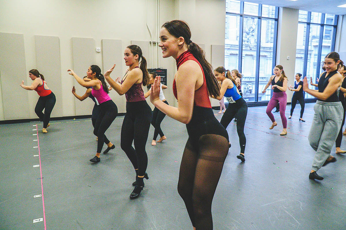
{"type": "MultiPolygon", "coordinates": [[[[201,67],[201,70],[203,73],[203,84],[198,90],[195,90],[194,103],[193,104],[194,104],[194,106],[211,108],[209,94],[208,94],[208,88],[207,88],[207,82],[206,82],[206,76],[204,75],[203,68],[202,68],[201,64],[199,63],[199,61],[197,61],[197,59],[193,56],[193,54],[189,50],[180,54],[180,56],[176,59],[177,69],[179,69],[179,66],[181,66],[181,64],[183,64],[187,60],[194,60],[195,62],[197,62],[199,64],[199,66],[201,67]]],[[[177,93],[176,93],[175,79],[173,80],[173,87],[172,88],[173,88],[174,97],[176,99],[178,99],[177,93]]]]}

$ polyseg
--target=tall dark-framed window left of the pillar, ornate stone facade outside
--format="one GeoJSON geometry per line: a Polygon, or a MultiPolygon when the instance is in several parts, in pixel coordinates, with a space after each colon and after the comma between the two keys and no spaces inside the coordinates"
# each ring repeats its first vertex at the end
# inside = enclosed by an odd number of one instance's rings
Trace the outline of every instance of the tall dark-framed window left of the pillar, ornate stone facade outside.
{"type": "Polygon", "coordinates": [[[278,13],[274,6],[226,0],[225,68],[244,75],[247,102],[270,100],[271,90],[262,90],[275,66],[278,13]]]}

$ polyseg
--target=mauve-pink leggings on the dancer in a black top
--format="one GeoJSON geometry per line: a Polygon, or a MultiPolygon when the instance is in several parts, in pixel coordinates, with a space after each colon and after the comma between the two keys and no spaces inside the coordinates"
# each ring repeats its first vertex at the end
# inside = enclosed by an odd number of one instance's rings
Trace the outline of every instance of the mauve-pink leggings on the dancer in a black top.
{"type": "Polygon", "coordinates": [[[267,110],[265,111],[272,122],[275,121],[272,110],[275,108],[277,103],[280,102],[280,116],[283,128],[287,128],[287,119],[285,116],[286,104],[287,104],[287,94],[286,92],[273,92],[273,97],[270,99],[267,110]]]}

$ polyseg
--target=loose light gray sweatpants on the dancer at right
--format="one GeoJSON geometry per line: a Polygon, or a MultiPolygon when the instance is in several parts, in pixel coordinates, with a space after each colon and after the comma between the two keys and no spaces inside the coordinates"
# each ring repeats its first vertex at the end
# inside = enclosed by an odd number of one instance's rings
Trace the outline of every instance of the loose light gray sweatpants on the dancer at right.
{"type": "Polygon", "coordinates": [[[319,170],[330,155],[343,121],[341,102],[317,101],[313,107],[312,126],[309,133],[310,146],[316,151],[312,170],[319,170]]]}

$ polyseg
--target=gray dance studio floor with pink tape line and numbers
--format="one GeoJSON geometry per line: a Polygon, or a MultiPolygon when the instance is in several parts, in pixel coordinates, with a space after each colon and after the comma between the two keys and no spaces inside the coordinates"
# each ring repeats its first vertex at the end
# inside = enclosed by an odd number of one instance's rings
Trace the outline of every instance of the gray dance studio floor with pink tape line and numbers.
{"type": "MultiPolygon", "coordinates": [[[[279,135],[279,113],[274,113],[278,126],[269,130],[265,107],[250,107],[244,163],[236,158],[235,122],[229,124],[232,147],[212,206],[215,230],[346,229],[346,156],[337,155],[337,162],[318,171],[323,181],[308,179],[313,105],[306,104],[306,122],[299,122],[297,105],[287,136],[279,135]]],[[[286,117],[289,110],[290,105],[286,117]]],[[[120,148],[122,119],[106,132],[116,148],[101,153],[97,164],[89,161],[97,145],[90,119],[52,121],[47,134],[40,122],[1,125],[0,229],[192,229],[176,189],[188,138],[184,124],[166,117],[161,127],[167,140],[156,146],[151,146],[151,127],[149,180],[140,197],[130,200],[135,173],[120,148]]]]}

